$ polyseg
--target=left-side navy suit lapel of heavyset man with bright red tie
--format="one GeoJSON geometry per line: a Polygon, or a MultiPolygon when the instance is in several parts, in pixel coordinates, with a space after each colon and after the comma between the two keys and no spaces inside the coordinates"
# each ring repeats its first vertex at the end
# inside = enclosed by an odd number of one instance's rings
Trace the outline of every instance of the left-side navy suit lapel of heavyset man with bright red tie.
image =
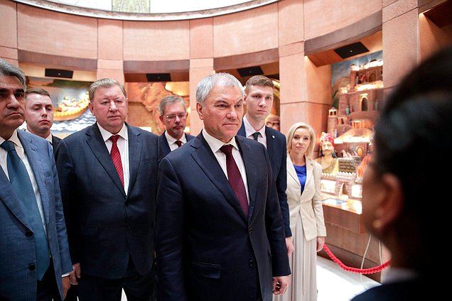
{"type": "Polygon", "coordinates": [[[114,168],[112,157],[110,157],[110,154],[107,150],[107,146],[105,146],[104,139],[102,138],[102,135],[99,131],[99,128],[97,127],[97,124],[93,124],[91,128],[87,131],[86,135],[87,135],[86,142],[90,147],[92,153],[94,153],[95,157],[102,165],[104,170],[107,172],[109,177],[112,178],[114,185],[116,185],[119,191],[122,193],[122,195],[126,197],[124,187],[122,187],[119,175],[116,171],[116,168],[114,168]]]}

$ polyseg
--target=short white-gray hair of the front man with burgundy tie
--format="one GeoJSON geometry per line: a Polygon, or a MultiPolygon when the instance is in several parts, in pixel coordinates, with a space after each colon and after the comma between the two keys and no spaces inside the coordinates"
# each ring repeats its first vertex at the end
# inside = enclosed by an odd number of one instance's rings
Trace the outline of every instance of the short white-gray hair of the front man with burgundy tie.
{"type": "Polygon", "coordinates": [[[221,87],[238,87],[240,92],[242,92],[242,97],[244,97],[242,83],[233,75],[220,72],[208,75],[198,83],[198,87],[196,87],[196,102],[204,106],[205,99],[209,96],[210,91],[212,91],[215,85],[221,87]]]}

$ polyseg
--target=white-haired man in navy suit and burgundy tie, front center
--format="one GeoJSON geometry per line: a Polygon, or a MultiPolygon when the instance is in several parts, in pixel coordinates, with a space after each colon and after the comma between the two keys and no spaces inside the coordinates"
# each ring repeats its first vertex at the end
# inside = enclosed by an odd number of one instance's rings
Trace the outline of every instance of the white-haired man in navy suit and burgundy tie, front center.
{"type": "Polygon", "coordinates": [[[196,106],[204,128],[159,164],[159,301],[271,301],[289,285],[267,151],[236,136],[243,96],[227,73],[201,80],[196,106]]]}

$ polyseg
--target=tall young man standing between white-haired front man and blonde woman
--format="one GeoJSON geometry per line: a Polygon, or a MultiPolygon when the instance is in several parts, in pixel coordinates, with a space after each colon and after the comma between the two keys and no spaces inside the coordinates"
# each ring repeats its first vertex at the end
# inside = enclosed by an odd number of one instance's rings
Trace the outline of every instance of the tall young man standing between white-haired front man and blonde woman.
{"type": "Polygon", "coordinates": [[[238,135],[254,139],[267,147],[276,183],[281,214],[284,219],[284,234],[289,256],[294,251],[289,219],[289,204],[287,204],[287,147],[286,137],[274,128],[265,126],[265,119],[269,116],[273,106],[274,84],[264,75],[250,77],[245,84],[245,104],[247,114],[243,117],[238,135]]]}

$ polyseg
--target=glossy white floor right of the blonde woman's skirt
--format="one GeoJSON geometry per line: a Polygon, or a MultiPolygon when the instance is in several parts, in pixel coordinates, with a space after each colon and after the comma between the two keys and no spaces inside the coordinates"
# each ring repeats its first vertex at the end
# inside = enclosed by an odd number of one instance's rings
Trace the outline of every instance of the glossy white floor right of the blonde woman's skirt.
{"type": "MultiPolygon", "coordinates": [[[[317,257],[317,301],[348,301],[375,285],[380,283],[365,275],[343,270],[334,261],[317,257]]],[[[124,293],[122,301],[127,301],[124,293]]]]}

